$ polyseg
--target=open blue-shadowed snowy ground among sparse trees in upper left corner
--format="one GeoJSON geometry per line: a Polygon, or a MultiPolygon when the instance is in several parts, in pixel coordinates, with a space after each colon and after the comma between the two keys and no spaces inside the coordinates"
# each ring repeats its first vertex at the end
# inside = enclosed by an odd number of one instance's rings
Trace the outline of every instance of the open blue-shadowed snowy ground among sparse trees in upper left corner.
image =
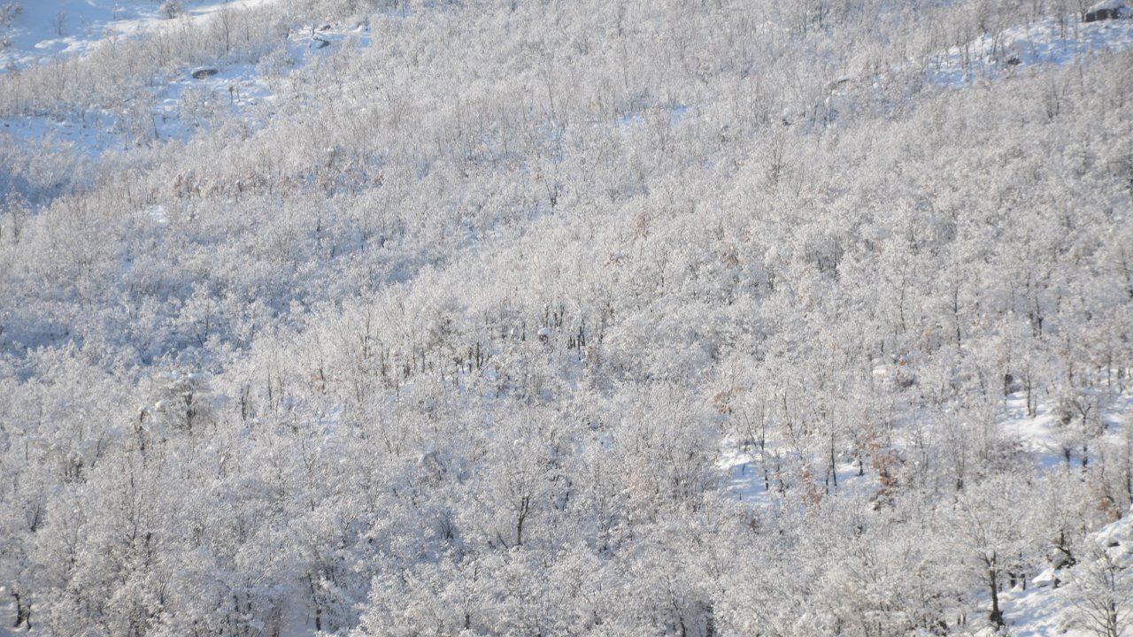
{"type": "MultiPolygon", "coordinates": [[[[185,3],[185,14],[176,19],[207,20],[223,8],[239,9],[275,0],[198,0],[185,3]]],[[[127,7],[110,0],[57,0],[25,9],[15,23],[18,34],[12,46],[0,53],[0,66],[42,61],[58,54],[84,56],[111,34],[144,34],[170,24],[159,15],[156,2],[131,2],[127,7]],[[79,33],[54,37],[45,17],[52,11],[75,8],[75,18],[86,25],[79,33]]],[[[296,31],[286,44],[259,63],[231,63],[207,67],[207,74],[186,68],[164,82],[150,86],[150,104],[135,104],[133,112],[92,108],[67,116],[0,118],[0,136],[11,135],[22,144],[48,142],[92,159],[107,151],[126,151],[137,144],[188,142],[199,129],[223,118],[242,121],[248,129],[261,128],[271,117],[272,88],[265,75],[293,73],[305,65],[335,51],[349,36],[360,48],[369,45],[369,29],[353,26],[340,29],[330,25],[317,32],[296,31]],[[274,60],[274,65],[272,63],[274,60]]],[[[0,71],[3,73],[3,71],[0,71]]]]}

